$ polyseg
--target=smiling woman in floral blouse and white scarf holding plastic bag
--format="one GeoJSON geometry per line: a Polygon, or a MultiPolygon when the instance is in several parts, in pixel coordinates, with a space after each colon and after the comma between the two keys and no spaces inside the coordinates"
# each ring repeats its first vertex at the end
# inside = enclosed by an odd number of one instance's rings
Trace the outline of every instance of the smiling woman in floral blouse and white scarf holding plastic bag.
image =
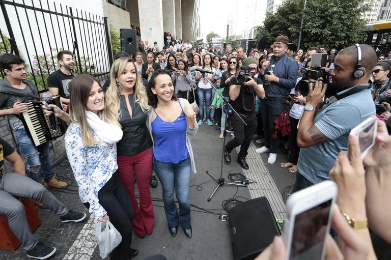
{"type": "Polygon", "coordinates": [[[79,75],[70,83],[71,124],[65,134],[65,149],[82,203],[96,220],[111,223],[122,236],[110,259],[130,259],[138,252],[129,247],[134,210],[117,175],[117,146],[122,130],[118,114],[105,104],[99,82],[79,75]]]}

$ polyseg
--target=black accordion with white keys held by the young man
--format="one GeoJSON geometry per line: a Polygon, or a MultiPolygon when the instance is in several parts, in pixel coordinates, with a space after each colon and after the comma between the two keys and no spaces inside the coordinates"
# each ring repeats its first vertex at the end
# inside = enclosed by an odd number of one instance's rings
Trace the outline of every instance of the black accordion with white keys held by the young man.
{"type": "MultiPolygon", "coordinates": [[[[57,105],[61,110],[63,107],[60,102],[60,96],[53,96],[48,104],[57,105]]],[[[43,110],[43,101],[34,100],[26,102],[27,111],[20,114],[27,134],[30,136],[34,146],[42,145],[47,141],[62,136],[67,130],[67,124],[53,114],[46,115],[43,110]]]]}

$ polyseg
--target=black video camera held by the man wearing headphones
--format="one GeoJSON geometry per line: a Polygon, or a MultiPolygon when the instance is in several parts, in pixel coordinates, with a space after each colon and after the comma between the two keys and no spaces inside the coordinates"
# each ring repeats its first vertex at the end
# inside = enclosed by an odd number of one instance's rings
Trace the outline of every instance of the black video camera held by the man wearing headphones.
{"type": "MultiPolygon", "coordinates": [[[[308,79],[319,80],[321,79],[328,85],[331,84],[329,75],[331,71],[323,69],[326,66],[328,55],[326,53],[315,53],[311,56],[311,68],[305,68],[303,70],[303,78],[297,83],[298,91],[302,96],[308,96],[310,92],[310,83],[308,79]]],[[[312,82],[312,87],[315,87],[315,82],[312,82]]]]}

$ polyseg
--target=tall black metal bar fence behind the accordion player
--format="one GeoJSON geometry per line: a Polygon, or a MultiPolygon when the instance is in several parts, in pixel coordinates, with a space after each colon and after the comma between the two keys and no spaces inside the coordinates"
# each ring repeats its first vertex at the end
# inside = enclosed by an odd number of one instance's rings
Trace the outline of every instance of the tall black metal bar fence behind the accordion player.
{"type": "Polygon", "coordinates": [[[0,50],[26,61],[27,78],[40,92],[47,90],[49,74],[60,68],[60,50],[73,52],[75,73],[92,74],[99,81],[108,78],[113,53],[107,17],[62,4],[49,5],[48,0],[31,0],[29,4],[0,0],[0,8],[0,24],[6,25],[0,27],[0,50]]]}

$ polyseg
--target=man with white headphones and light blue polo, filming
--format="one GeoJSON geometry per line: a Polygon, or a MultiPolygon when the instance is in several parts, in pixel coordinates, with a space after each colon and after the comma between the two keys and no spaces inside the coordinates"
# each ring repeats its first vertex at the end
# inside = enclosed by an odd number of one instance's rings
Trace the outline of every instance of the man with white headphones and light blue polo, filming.
{"type": "Polygon", "coordinates": [[[316,82],[299,121],[301,147],[293,192],[329,179],[338,154],[348,148],[350,130],[375,115],[368,80],[377,63],[375,50],[366,44],[341,50],[330,74],[332,85],[316,82]],[[327,89],[327,91],[326,91],[327,89]],[[328,97],[323,103],[323,97],[328,97]]]}

